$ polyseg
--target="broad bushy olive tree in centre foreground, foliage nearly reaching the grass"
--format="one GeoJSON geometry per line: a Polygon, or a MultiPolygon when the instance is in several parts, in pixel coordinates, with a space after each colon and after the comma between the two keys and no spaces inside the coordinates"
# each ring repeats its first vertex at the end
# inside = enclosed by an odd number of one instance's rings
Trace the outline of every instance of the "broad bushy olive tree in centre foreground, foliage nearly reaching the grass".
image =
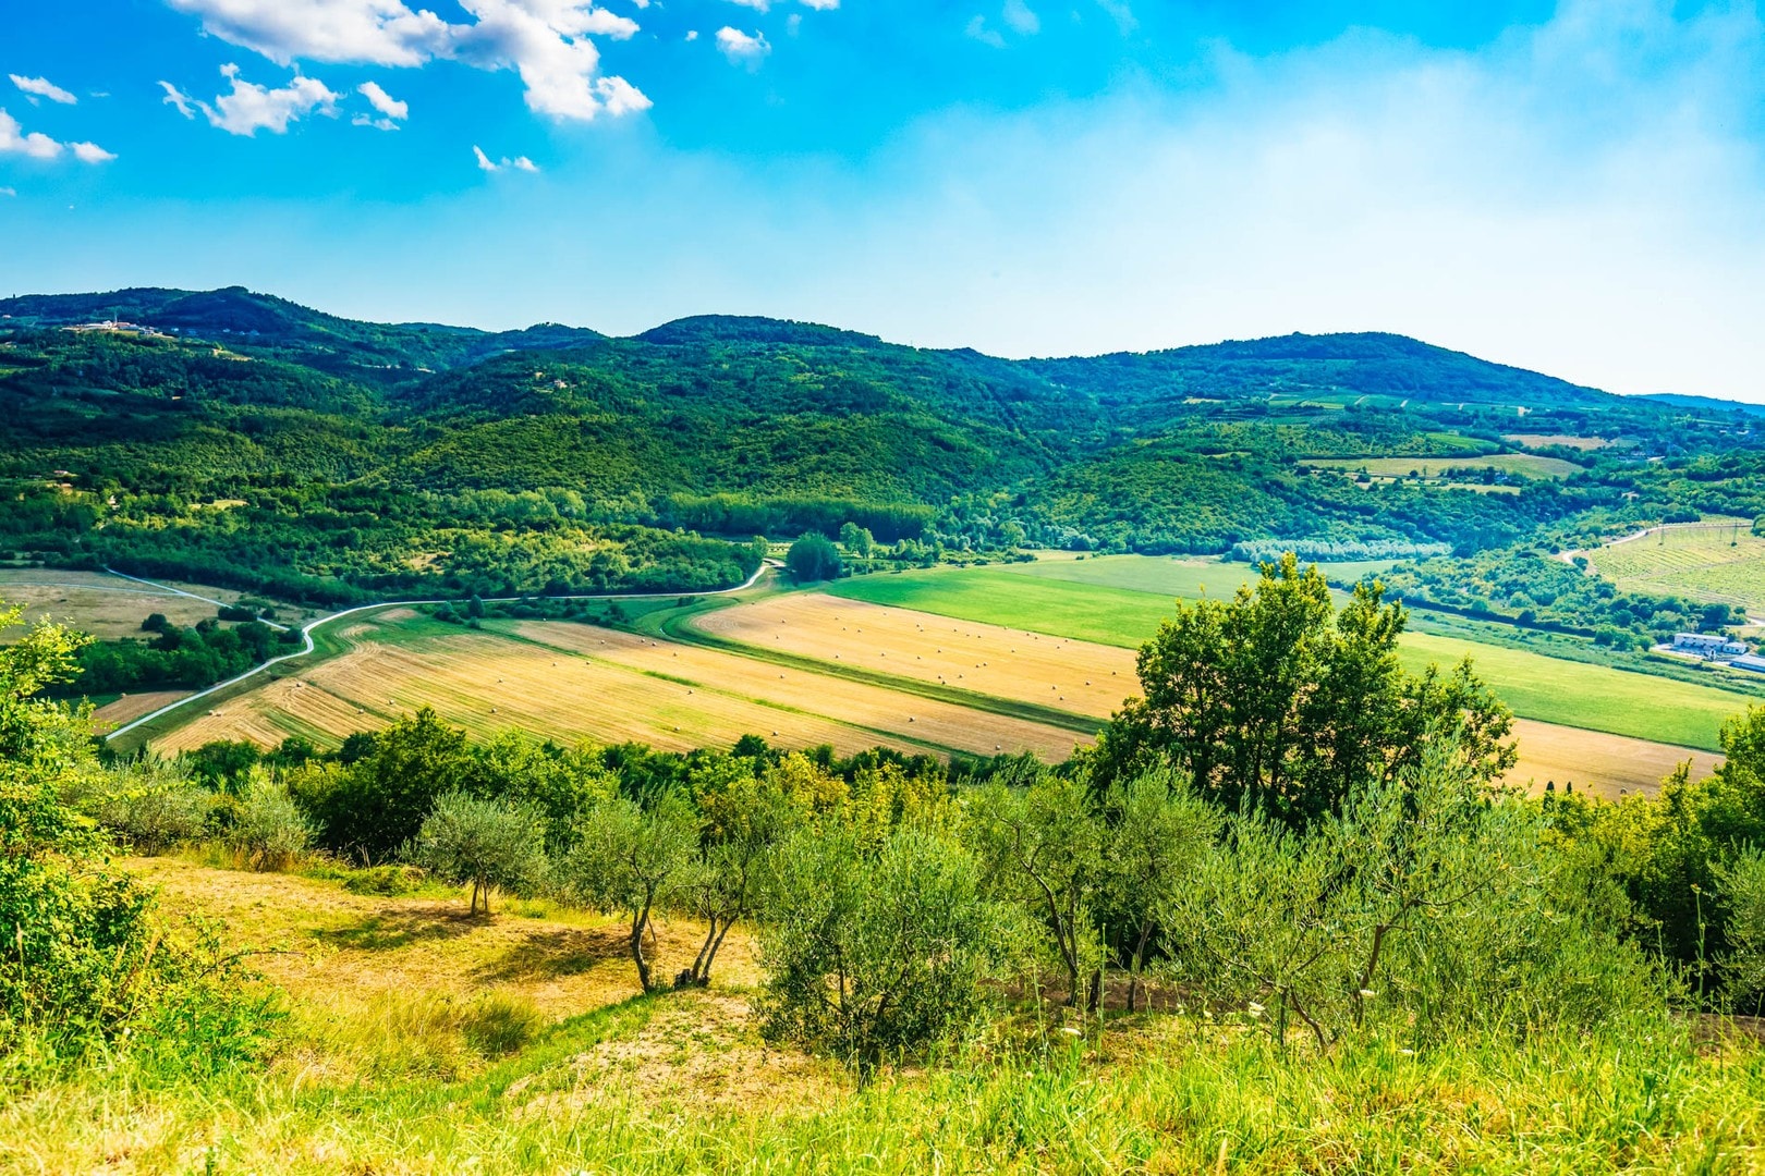
{"type": "Polygon", "coordinates": [[[762,1031],[868,1081],[973,1023],[1004,956],[1003,926],[953,837],[902,827],[867,853],[851,830],[803,830],[768,882],[762,1031]]]}

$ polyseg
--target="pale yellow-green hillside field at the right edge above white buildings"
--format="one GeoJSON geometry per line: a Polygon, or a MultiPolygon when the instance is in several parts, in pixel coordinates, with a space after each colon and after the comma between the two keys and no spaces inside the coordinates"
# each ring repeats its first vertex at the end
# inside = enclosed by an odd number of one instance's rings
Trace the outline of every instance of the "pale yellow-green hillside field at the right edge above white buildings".
{"type": "Polygon", "coordinates": [[[1765,612],[1765,538],[1746,520],[1668,527],[1590,554],[1619,587],[1765,612]]]}

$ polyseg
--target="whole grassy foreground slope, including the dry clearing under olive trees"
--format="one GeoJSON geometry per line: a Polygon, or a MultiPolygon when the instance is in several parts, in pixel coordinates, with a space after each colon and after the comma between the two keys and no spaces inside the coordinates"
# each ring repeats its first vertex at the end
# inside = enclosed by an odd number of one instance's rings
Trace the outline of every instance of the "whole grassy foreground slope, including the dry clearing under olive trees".
{"type": "MultiPolygon", "coordinates": [[[[1230,1017],[1112,1014],[1071,1037],[1031,1007],[858,1090],[759,1040],[745,947],[734,987],[637,998],[593,919],[468,920],[450,896],[138,869],[173,910],[277,949],[263,966],[289,1016],[261,1067],[115,1063],[12,1093],[5,1171],[1765,1171],[1765,1054],[1721,1026],[1701,1044],[1654,1019],[1317,1056],[1230,1017]]],[[[671,952],[688,942],[664,934],[671,952]]]]}

